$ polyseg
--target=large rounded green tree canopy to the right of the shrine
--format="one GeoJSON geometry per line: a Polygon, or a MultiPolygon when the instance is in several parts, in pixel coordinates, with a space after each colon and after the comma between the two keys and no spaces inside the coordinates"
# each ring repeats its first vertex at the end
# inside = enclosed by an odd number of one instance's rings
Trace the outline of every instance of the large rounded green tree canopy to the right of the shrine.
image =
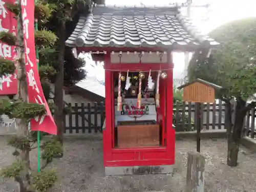
{"type": "Polygon", "coordinates": [[[220,43],[206,58],[196,52],[190,60],[188,77],[201,78],[225,88],[221,99],[247,100],[256,93],[256,17],[236,20],[209,33],[220,43]]]}

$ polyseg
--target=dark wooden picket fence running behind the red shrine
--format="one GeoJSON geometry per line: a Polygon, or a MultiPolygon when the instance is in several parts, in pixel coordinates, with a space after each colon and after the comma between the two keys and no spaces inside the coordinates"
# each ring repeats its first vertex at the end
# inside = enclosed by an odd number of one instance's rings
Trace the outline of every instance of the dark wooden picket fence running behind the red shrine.
{"type": "MultiPolygon", "coordinates": [[[[65,122],[65,133],[89,133],[101,132],[105,119],[105,106],[103,102],[94,103],[69,103],[72,112],[63,119],[65,122]]],[[[177,132],[195,131],[198,127],[198,110],[194,103],[175,103],[173,110],[173,124],[177,132]]],[[[255,109],[249,111],[244,121],[244,134],[255,138],[255,109]]],[[[225,129],[225,104],[201,103],[201,130],[224,130],[225,129]]]]}

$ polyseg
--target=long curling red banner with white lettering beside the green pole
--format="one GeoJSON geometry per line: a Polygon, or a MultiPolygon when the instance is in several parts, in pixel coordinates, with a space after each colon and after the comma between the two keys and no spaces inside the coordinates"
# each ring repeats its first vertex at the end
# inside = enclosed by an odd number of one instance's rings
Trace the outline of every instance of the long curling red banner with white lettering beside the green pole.
{"type": "MultiPolygon", "coordinates": [[[[1,1],[1,0],[0,0],[1,1]]],[[[57,127],[49,110],[37,70],[34,38],[34,0],[22,0],[23,33],[25,45],[25,62],[28,82],[29,102],[45,105],[47,114],[31,119],[31,131],[57,134],[57,127]]]]}

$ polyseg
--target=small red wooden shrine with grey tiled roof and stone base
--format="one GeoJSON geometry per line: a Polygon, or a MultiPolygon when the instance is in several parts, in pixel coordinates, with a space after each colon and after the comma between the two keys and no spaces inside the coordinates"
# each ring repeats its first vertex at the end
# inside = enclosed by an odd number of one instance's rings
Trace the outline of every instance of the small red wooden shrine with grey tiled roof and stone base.
{"type": "MultiPolygon", "coordinates": [[[[210,51],[179,7],[95,6],[66,41],[104,61],[106,175],[171,173],[174,51],[210,51]]],[[[177,65],[179,65],[177,63],[177,65]]]]}

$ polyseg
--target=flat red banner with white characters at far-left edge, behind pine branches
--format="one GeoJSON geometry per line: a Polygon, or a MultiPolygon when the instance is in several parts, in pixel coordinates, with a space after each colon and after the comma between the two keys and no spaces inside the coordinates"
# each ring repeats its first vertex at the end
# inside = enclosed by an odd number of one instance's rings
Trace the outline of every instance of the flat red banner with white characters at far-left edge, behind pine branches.
{"type": "MultiPolygon", "coordinates": [[[[14,14],[10,12],[5,3],[14,3],[15,0],[0,0],[0,31],[11,32],[16,35],[17,20],[14,14]]],[[[9,46],[0,41],[0,56],[8,60],[14,60],[16,51],[14,46],[9,46]]],[[[0,77],[0,95],[17,94],[17,78],[16,74],[8,74],[0,77]]]]}

